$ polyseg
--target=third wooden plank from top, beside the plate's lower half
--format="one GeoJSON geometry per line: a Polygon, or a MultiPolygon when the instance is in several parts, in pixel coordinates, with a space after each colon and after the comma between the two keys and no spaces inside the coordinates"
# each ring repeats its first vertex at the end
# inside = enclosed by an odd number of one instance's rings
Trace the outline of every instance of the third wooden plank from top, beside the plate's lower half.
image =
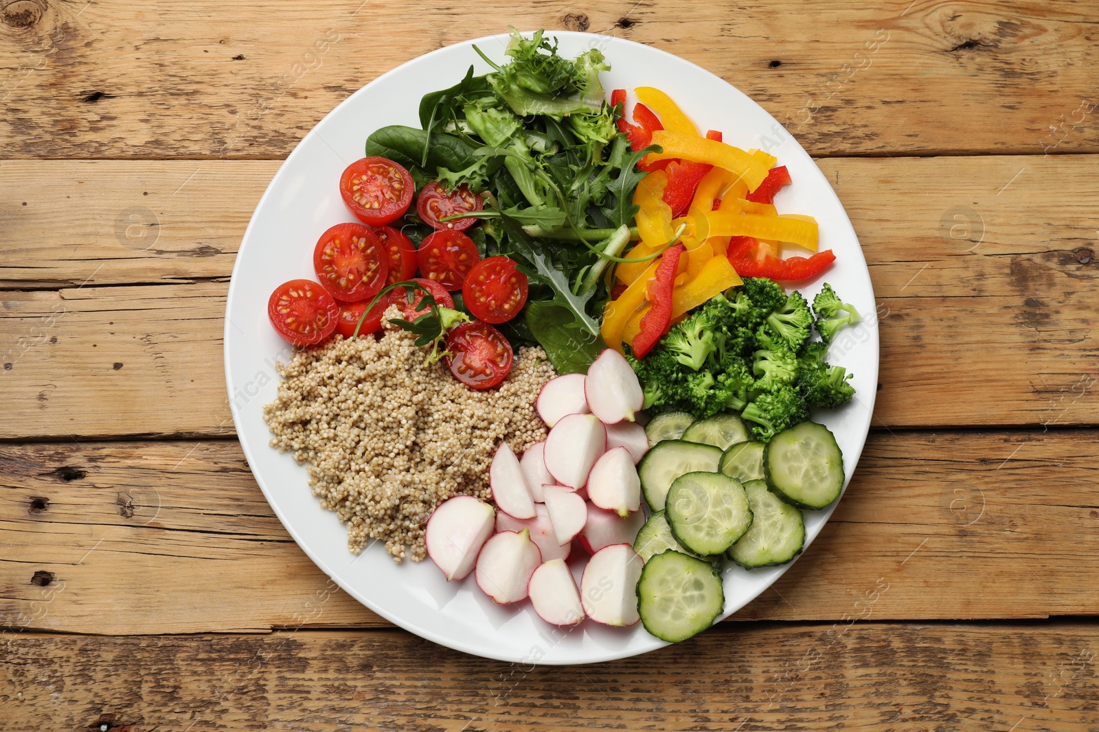
{"type": "MultiPolygon", "coordinates": [[[[1080,446],[1097,437],[874,433],[823,533],[736,617],[1092,613],[1099,504],[1080,446]]],[[[177,633],[380,622],[325,586],[235,442],[7,444],[0,474],[0,626],[177,633]]]]}

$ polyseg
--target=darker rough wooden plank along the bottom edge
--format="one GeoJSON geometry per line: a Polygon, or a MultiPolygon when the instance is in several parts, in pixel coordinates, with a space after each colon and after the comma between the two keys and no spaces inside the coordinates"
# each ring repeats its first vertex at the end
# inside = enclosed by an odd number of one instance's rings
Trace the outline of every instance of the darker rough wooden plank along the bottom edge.
{"type": "Polygon", "coordinates": [[[574,667],[397,631],[30,635],[0,647],[0,730],[1084,732],[1096,652],[1085,623],[751,624],[574,667]]]}

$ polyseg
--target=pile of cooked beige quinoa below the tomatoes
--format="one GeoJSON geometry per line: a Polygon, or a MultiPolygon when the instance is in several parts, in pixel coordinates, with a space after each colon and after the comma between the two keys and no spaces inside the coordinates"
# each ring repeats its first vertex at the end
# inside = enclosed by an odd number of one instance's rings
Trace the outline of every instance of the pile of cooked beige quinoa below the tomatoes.
{"type": "Polygon", "coordinates": [[[313,495],[347,526],[352,552],[376,539],[396,561],[419,562],[435,506],[490,497],[501,440],[521,453],[545,439],[534,401],[555,374],[541,348],[520,348],[500,386],[475,391],[443,363],[425,364],[414,335],[384,323],[380,339],[336,336],[298,351],[279,368],[264,418],[271,447],[309,464],[313,495]]]}

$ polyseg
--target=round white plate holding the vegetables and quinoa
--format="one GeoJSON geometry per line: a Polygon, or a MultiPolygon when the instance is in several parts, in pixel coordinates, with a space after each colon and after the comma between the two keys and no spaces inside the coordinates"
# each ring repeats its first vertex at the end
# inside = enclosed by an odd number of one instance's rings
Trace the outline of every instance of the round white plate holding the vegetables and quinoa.
{"type": "MultiPolygon", "coordinates": [[[[818,415],[835,432],[850,478],[874,406],[878,331],[866,262],[828,180],[774,117],[709,71],[620,38],[555,35],[567,57],[592,46],[603,50],[613,67],[602,75],[606,89],[651,86],[667,90],[702,129],[720,129],[725,142],[745,149],[766,149],[789,168],[795,182],[779,193],[779,210],[817,217],[821,248],[836,254],[828,281],[867,316],[863,325],[848,328],[833,344],[830,357],[854,371],[857,401],[834,414],[818,415]]],[[[335,514],[321,509],[310,494],[306,468],[268,446],[263,405],[276,395],[276,361],[290,358],[290,348],[267,320],[268,296],[287,280],[314,279],[312,252],[318,237],[333,224],[353,221],[337,187],[344,167],[363,157],[367,135],[389,124],[419,126],[417,110],[424,93],[456,83],[470,64],[477,74],[489,70],[474,52],[474,43],[502,60],[507,36],[440,48],[368,83],[306,135],[271,180],[244,234],[229,288],[225,380],[236,431],[259,487],[298,544],[344,590],[384,618],[442,645],[524,665],[591,663],[644,653],[665,643],[640,623],[607,628],[586,621],[565,632],[540,620],[529,604],[495,606],[476,588],[473,577],[446,583],[430,560],[398,565],[378,543],[356,558],[347,550],[346,532],[335,514]]],[[[818,288],[803,283],[801,290],[808,294],[818,288]]],[[[831,514],[832,508],[807,511],[807,545],[831,514]]],[[[747,605],[789,566],[754,572],[728,567],[724,613],[747,605]]]]}

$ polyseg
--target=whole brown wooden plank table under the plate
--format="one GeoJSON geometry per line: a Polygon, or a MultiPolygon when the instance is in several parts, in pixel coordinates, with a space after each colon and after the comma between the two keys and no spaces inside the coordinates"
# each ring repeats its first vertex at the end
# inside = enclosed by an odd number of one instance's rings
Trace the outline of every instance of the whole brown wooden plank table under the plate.
{"type": "Polygon", "coordinates": [[[0,730],[1099,729],[1097,8],[909,3],[0,0],[0,730]],[[280,161],[509,23],[757,100],[878,297],[874,428],[820,538],[732,621],[601,665],[466,656],[337,590],[223,381],[280,161]]]}

